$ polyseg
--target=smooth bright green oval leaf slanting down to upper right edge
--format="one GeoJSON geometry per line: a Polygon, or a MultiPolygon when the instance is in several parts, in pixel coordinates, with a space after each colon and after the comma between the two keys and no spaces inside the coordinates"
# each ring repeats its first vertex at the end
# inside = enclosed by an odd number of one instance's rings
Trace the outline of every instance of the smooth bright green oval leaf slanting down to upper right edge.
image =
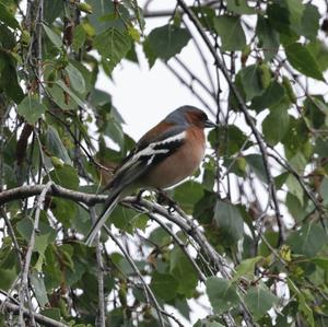
{"type": "Polygon", "coordinates": [[[293,43],[284,47],[290,63],[301,73],[316,80],[325,81],[316,59],[301,43],[293,43]]]}

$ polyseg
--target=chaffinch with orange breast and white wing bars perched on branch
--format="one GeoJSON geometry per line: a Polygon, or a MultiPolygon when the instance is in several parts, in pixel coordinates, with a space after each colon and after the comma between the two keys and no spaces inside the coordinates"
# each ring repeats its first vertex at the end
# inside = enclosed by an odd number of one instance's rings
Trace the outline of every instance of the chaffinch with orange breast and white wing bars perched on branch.
{"type": "Polygon", "coordinates": [[[206,150],[206,127],[215,127],[206,113],[183,106],[149,130],[116,168],[105,207],[92,226],[91,245],[117,202],[138,188],[164,189],[190,176],[206,150]]]}

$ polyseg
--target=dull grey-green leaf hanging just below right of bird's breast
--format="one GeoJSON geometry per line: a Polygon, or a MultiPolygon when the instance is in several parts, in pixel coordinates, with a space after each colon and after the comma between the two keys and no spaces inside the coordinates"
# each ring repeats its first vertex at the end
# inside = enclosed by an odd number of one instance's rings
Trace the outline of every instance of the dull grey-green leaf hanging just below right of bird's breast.
{"type": "Polygon", "coordinates": [[[243,237],[244,221],[236,206],[218,200],[214,209],[214,222],[222,231],[222,237],[226,244],[236,244],[243,237]]]}

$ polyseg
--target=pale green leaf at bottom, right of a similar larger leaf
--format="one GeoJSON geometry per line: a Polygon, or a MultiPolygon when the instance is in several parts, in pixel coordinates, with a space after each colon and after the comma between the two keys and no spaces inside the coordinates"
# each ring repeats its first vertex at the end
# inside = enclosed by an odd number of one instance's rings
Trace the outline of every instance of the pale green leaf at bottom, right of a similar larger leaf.
{"type": "Polygon", "coordinates": [[[245,303],[256,319],[261,318],[278,301],[262,282],[248,290],[245,296],[245,303]]]}

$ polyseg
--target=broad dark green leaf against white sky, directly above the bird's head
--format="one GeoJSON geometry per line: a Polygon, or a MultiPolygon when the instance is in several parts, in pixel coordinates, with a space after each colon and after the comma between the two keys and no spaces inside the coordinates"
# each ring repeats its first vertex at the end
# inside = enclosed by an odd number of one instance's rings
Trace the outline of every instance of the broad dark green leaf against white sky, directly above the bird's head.
{"type": "Polygon", "coordinates": [[[147,42],[156,58],[168,60],[179,54],[189,39],[190,34],[186,28],[168,24],[154,28],[147,42]]]}

